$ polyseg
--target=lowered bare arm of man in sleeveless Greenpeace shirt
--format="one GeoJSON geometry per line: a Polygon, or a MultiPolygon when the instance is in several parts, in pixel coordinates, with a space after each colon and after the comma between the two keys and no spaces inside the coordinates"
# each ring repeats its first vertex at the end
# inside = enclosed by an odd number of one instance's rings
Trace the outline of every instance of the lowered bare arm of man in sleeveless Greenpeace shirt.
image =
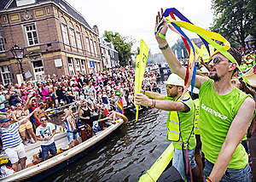
{"type": "Polygon", "coordinates": [[[241,139],[245,134],[247,134],[247,128],[253,117],[254,110],[255,102],[251,98],[247,98],[241,104],[241,107],[237,111],[236,117],[230,126],[221,151],[218,154],[218,159],[212,168],[212,173],[209,176],[212,181],[219,181],[223,177],[233,153],[236,151],[237,145],[241,142],[241,139]]]}

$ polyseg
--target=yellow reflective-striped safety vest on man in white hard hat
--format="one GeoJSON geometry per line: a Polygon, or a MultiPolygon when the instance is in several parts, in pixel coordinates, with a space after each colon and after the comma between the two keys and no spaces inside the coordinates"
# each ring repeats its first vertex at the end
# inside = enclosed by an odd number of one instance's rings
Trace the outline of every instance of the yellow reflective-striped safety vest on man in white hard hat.
{"type": "MultiPolygon", "coordinates": [[[[190,95],[188,93],[186,93],[184,97],[190,98],[190,95]]],[[[180,99],[180,96],[176,100],[173,100],[173,101],[176,102],[179,99],[180,99]]],[[[177,111],[169,111],[168,112],[166,128],[167,128],[166,140],[179,141],[179,139],[180,139],[180,122],[179,122],[179,117],[178,117],[177,111]]]]}

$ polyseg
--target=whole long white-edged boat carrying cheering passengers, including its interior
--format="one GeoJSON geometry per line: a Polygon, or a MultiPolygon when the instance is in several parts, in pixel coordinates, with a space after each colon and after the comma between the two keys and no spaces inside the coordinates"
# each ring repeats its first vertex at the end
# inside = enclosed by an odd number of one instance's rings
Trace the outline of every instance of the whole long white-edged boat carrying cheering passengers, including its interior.
{"type": "MultiPolygon", "coordinates": [[[[117,128],[119,128],[124,122],[127,122],[127,117],[122,114],[117,113],[118,119],[116,123],[112,124],[108,128],[99,131],[90,139],[85,140],[79,145],[74,146],[71,149],[60,150],[56,156],[52,156],[44,162],[33,162],[35,154],[41,150],[40,142],[36,144],[26,146],[26,164],[27,168],[20,170],[17,173],[9,175],[5,178],[0,179],[1,181],[39,181],[45,179],[52,173],[66,167],[72,162],[77,161],[80,157],[84,156],[87,151],[89,151],[93,146],[98,145],[103,139],[106,139],[110,134],[112,134],[117,128]]],[[[55,145],[57,148],[67,149],[67,133],[55,134],[55,145]]],[[[0,157],[7,158],[6,155],[1,155],[0,157]]]]}

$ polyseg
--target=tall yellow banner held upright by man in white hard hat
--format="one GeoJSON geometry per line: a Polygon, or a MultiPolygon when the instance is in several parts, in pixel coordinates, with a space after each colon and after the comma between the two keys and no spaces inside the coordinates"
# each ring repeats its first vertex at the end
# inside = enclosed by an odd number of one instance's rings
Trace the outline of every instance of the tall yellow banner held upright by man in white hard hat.
{"type": "MultiPolygon", "coordinates": [[[[136,57],[134,94],[140,93],[141,91],[147,60],[148,60],[148,46],[141,39],[140,54],[138,54],[136,57]]],[[[138,119],[138,105],[136,105],[136,121],[137,119],[138,119]]]]}

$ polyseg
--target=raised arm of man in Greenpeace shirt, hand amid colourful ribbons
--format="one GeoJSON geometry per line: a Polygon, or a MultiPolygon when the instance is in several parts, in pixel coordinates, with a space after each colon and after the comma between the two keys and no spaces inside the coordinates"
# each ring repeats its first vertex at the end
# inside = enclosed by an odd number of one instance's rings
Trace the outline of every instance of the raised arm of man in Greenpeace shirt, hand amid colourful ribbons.
{"type": "MultiPolygon", "coordinates": [[[[161,13],[158,12],[156,15],[156,20],[155,20],[155,27],[159,25],[161,15],[163,14],[163,9],[161,9],[161,13]]],[[[166,31],[168,29],[166,19],[164,19],[164,25],[160,30],[160,34],[166,36],[166,31]]],[[[173,73],[177,74],[179,77],[182,77],[185,79],[186,76],[186,69],[181,65],[180,61],[177,60],[177,57],[175,54],[172,53],[172,49],[169,47],[166,39],[163,39],[159,36],[159,34],[155,35],[156,41],[159,44],[159,48],[162,52],[162,54],[166,58],[166,62],[170,66],[171,70],[173,73]]],[[[202,83],[207,82],[206,77],[201,77],[201,76],[195,76],[195,87],[196,88],[201,88],[202,83]]]]}

